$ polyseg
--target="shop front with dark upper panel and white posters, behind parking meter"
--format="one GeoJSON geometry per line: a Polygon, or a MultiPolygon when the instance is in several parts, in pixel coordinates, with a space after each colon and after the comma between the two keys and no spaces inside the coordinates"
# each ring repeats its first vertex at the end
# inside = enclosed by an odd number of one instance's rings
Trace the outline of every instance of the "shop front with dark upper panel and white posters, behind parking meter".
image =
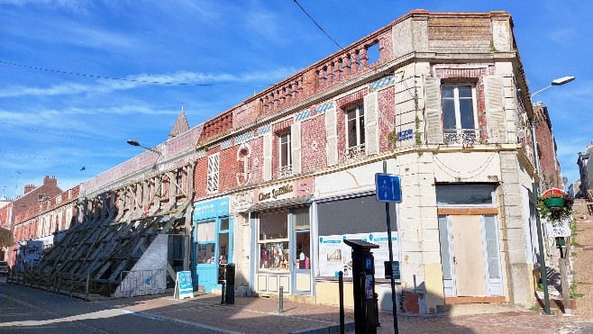
{"type": "MultiPolygon", "coordinates": [[[[341,194],[315,199],[315,248],[318,263],[315,270],[315,298],[318,303],[337,305],[338,277],[344,277],[344,289],[352,289],[352,248],[344,240],[360,239],[379,246],[371,250],[374,257],[374,280],[381,309],[391,308],[390,280],[385,264],[389,261],[389,239],[385,203],[378,202],[374,191],[341,194]]],[[[390,203],[392,248],[394,261],[400,259],[397,229],[397,208],[390,203]]],[[[351,293],[344,302],[352,307],[351,293]]]]}

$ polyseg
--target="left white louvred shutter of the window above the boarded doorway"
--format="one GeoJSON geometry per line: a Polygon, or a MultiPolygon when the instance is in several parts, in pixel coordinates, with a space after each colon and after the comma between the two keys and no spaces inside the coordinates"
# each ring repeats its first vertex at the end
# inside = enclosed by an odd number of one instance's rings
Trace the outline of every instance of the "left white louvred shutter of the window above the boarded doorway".
{"type": "Polygon", "coordinates": [[[426,142],[442,144],[441,79],[438,77],[424,77],[424,113],[426,142]]]}

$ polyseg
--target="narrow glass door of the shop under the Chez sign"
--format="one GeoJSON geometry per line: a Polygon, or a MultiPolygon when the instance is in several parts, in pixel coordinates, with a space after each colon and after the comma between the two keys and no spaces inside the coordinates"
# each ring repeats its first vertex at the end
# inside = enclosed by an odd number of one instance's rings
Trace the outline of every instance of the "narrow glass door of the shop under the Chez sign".
{"type": "Polygon", "coordinates": [[[311,294],[311,230],[309,211],[299,210],[292,215],[292,282],[297,294],[311,294]]]}

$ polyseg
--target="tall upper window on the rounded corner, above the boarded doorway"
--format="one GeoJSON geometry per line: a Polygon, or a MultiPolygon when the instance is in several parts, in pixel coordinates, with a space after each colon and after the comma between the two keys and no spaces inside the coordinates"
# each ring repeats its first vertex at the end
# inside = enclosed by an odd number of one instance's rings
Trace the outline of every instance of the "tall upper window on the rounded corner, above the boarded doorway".
{"type": "Polygon", "coordinates": [[[450,143],[478,140],[474,86],[443,85],[441,92],[444,140],[450,143]]]}

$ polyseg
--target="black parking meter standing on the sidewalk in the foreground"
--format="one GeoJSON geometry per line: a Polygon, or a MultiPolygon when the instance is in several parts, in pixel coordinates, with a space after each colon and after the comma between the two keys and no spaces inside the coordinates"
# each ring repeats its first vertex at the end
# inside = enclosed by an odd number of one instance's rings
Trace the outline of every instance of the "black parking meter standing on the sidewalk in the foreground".
{"type": "Polygon", "coordinates": [[[344,243],[352,248],[355,333],[376,334],[375,259],[370,249],[379,246],[358,239],[344,243]]]}

